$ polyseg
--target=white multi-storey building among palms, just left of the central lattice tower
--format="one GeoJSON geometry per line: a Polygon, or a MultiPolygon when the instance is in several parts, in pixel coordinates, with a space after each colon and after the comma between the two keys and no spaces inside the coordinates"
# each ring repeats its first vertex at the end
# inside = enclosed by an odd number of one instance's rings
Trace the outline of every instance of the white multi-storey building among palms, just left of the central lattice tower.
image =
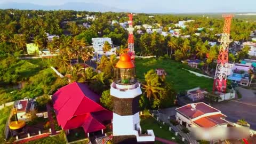
{"type": "Polygon", "coordinates": [[[116,54],[116,47],[113,46],[113,42],[111,41],[111,38],[109,37],[97,37],[92,38],[92,46],[95,53],[98,53],[99,55],[111,55],[116,54]],[[111,50],[104,53],[102,47],[104,46],[105,42],[108,42],[111,45],[111,50]]]}

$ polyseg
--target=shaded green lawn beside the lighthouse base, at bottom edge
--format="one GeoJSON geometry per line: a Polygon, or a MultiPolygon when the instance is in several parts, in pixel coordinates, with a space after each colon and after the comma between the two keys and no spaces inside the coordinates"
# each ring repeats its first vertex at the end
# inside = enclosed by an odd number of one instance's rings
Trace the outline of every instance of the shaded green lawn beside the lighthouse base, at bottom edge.
{"type": "MultiPolygon", "coordinates": [[[[169,126],[164,125],[162,128],[159,127],[159,123],[151,116],[143,116],[140,121],[142,133],[146,130],[153,130],[156,137],[174,141],[177,143],[183,143],[174,133],[169,131],[169,126]],[[172,137],[175,139],[173,140],[172,137]]],[[[156,142],[157,143],[157,142],[156,142]]]]}

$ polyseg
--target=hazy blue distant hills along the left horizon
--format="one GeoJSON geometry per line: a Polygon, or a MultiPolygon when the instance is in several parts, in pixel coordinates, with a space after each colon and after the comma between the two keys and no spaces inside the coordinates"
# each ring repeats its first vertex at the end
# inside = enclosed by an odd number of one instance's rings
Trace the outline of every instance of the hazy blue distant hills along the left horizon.
{"type": "Polygon", "coordinates": [[[62,5],[37,5],[31,3],[6,2],[0,4],[0,9],[19,9],[19,10],[76,10],[76,11],[95,11],[95,12],[128,12],[128,10],[118,9],[96,3],[70,2],[62,5]]]}

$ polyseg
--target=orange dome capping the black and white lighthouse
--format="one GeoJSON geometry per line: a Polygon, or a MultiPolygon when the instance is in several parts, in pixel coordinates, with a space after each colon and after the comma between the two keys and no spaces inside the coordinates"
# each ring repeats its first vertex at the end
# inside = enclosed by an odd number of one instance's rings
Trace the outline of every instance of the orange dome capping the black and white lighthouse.
{"type": "Polygon", "coordinates": [[[116,68],[134,68],[134,63],[129,54],[120,55],[119,61],[116,63],[116,68]]]}

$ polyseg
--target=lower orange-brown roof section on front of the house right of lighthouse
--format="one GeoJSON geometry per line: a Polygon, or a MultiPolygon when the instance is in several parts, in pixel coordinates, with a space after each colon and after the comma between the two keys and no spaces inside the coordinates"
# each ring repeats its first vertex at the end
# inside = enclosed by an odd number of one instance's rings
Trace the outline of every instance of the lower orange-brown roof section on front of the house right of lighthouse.
{"type": "Polygon", "coordinates": [[[197,124],[198,126],[205,127],[205,128],[227,123],[227,121],[221,119],[221,117],[226,117],[226,116],[222,114],[206,116],[206,117],[197,119],[196,121],[194,121],[194,123],[197,124]]]}

